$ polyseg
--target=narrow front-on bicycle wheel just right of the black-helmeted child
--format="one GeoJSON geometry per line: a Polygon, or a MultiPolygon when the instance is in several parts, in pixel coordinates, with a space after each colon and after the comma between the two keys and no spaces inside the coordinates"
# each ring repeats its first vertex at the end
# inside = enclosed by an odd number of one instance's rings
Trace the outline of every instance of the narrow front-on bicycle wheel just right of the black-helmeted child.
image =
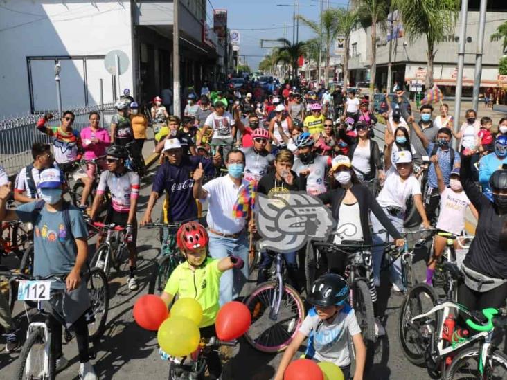
{"type": "Polygon", "coordinates": [[[363,280],[358,280],[352,287],[353,309],[357,318],[357,324],[361,327],[361,333],[366,341],[375,342],[375,313],[371,301],[370,288],[363,280]]]}

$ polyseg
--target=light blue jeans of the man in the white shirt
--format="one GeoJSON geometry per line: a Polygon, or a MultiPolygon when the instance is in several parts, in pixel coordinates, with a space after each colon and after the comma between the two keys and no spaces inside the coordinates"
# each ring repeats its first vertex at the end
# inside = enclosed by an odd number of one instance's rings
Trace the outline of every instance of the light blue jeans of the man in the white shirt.
{"type": "Polygon", "coordinates": [[[220,306],[237,298],[248,280],[248,240],[247,234],[241,233],[238,239],[209,233],[209,254],[214,259],[238,256],[244,261],[243,269],[233,268],[225,271],[220,278],[220,306]]]}

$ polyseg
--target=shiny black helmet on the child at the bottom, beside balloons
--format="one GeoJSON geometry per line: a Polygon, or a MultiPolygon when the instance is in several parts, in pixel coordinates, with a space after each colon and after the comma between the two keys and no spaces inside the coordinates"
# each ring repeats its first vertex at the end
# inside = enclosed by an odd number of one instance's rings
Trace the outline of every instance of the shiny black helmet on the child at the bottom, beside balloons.
{"type": "Polygon", "coordinates": [[[306,300],[316,306],[343,305],[348,298],[348,284],[341,275],[328,273],[317,278],[306,300]]]}

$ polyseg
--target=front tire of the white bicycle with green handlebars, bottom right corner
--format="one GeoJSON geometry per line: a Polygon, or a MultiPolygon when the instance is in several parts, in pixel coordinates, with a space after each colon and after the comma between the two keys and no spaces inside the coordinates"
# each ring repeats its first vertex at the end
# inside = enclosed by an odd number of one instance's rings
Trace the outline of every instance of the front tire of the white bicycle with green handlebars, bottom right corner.
{"type": "MultiPolygon", "coordinates": [[[[467,361],[469,359],[474,359],[474,361],[478,362],[479,353],[480,353],[480,347],[470,347],[467,350],[463,350],[459,352],[456,356],[454,356],[454,359],[450,365],[449,370],[447,370],[447,374],[445,379],[446,380],[454,380],[454,379],[463,379],[463,377],[459,377],[459,370],[462,369],[464,365],[466,365],[467,361]],[[476,359],[477,358],[477,359],[476,359]]],[[[499,370],[500,367],[504,368],[503,374],[500,374],[499,376],[495,374],[488,374],[487,377],[481,377],[481,374],[479,374],[479,371],[476,370],[473,373],[475,375],[472,375],[472,373],[467,374],[466,379],[470,379],[471,375],[473,376],[473,379],[488,379],[488,380],[502,380],[506,379],[507,377],[507,355],[501,352],[499,349],[494,349],[492,352],[490,352],[490,358],[493,361],[493,365],[490,366],[488,363],[486,363],[485,371],[488,369],[492,370],[499,370]]],[[[466,365],[466,369],[472,371],[472,369],[476,369],[477,366],[470,366],[466,365]]]]}

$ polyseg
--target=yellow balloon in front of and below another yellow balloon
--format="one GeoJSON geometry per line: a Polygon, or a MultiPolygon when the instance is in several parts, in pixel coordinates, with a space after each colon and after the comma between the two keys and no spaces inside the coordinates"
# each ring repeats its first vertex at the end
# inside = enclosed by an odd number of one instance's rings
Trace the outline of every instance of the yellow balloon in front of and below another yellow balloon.
{"type": "Polygon", "coordinates": [[[170,356],[186,356],[197,349],[201,334],[192,320],[171,315],[160,325],[157,340],[170,356]]]}

